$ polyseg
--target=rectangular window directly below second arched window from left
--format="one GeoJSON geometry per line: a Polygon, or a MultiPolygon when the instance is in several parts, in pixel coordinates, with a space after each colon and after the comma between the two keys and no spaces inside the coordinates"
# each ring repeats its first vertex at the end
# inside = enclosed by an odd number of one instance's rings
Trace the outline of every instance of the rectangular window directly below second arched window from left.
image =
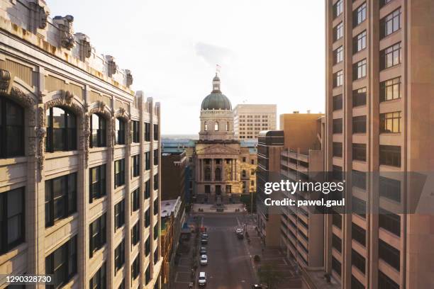
{"type": "Polygon", "coordinates": [[[77,211],[77,173],[45,181],[45,227],[77,211]]]}

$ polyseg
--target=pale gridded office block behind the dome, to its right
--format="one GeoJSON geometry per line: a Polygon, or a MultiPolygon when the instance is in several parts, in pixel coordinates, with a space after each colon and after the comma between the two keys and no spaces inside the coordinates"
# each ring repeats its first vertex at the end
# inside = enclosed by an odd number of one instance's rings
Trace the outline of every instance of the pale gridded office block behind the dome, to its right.
{"type": "Polygon", "coordinates": [[[233,109],[235,138],[257,139],[261,130],[276,130],[275,104],[238,104],[233,109]]]}

